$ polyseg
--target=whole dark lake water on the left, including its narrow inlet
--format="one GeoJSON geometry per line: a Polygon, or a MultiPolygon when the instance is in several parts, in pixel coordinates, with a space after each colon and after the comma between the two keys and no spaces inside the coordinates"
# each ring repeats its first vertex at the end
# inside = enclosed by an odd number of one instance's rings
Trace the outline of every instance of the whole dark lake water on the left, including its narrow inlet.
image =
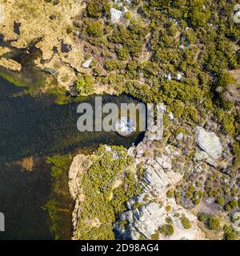
{"type": "MultiPolygon", "coordinates": [[[[42,210],[51,189],[50,166],[44,157],[94,149],[100,143],[130,147],[143,134],[122,138],[114,132],[81,133],[79,103],[59,106],[54,96],[20,96],[22,90],[0,78],[0,212],[6,218],[6,232],[0,232],[0,238],[51,239],[50,219],[42,210]],[[30,156],[38,159],[31,172],[13,164],[30,156]]],[[[84,102],[94,105],[94,96],[84,102]]],[[[104,95],[105,102],[136,101],[123,94],[104,95]]]]}

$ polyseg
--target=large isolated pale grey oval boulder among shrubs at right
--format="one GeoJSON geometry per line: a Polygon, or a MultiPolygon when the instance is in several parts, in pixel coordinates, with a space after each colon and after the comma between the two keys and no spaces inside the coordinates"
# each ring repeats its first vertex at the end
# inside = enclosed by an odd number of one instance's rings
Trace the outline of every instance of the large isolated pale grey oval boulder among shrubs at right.
{"type": "Polygon", "coordinates": [[[197,143],[211,158],[218,159],[222,154],[222,144],[218,136],[212,132],[206,131],[201,126],[197,126],[197,143]]]}

